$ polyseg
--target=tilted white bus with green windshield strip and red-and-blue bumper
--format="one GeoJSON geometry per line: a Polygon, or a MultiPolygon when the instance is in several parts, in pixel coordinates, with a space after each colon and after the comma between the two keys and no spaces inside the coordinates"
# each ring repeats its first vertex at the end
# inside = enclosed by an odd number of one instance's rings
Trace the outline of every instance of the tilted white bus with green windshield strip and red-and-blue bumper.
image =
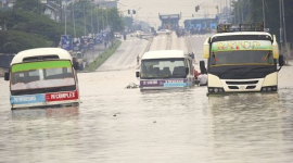
{"type": "Polygon", "coordinates": [[[38,48],[17,53],[5,80],[10,80],[12,109],[76,106],[78,80],[71,54],[60,48],[38,48]]]}

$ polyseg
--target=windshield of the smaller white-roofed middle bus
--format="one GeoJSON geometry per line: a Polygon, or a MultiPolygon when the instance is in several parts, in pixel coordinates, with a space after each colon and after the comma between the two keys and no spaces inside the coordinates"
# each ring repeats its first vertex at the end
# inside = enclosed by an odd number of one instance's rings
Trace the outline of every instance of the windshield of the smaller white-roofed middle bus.
{"type": "Polygon", "coordinates": [[[142,60],[141,78],[184,78],[184,59],[142,60]]]}

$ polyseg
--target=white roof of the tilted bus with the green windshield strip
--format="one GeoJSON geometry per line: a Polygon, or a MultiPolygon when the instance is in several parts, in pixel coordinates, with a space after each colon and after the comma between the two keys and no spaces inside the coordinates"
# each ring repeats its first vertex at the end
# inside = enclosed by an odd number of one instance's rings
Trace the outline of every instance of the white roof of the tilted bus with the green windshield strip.
{"type": "Polygon", "coordinates": [[[33,57],[44,57],[44,55],[58,55],[59,59],[65,59],[72,61],[72,55],[68,51],[61,48],[36,48],[28,49],[18,52],[12,60],[11,65],[15,63],[23,63],[23,59],[33,57]]]}

